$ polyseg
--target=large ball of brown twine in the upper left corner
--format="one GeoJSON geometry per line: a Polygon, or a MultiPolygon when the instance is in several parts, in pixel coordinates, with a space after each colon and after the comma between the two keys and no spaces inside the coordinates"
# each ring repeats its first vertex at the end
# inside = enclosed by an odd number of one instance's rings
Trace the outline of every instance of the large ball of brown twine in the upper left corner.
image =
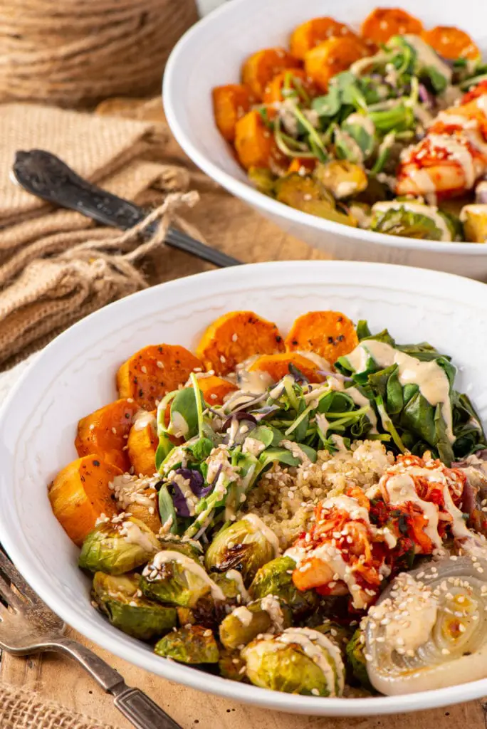
{"type": "Polygon", "coordinates": [[[195,0],[0,0],[0,101],[151,93],[197,19],[195,0]]]}

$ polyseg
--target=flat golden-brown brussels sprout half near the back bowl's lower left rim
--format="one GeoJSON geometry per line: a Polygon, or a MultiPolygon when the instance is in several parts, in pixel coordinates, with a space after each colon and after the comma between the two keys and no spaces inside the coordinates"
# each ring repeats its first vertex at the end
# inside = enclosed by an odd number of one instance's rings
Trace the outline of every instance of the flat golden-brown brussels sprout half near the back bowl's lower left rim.
{"type": "Polygon", "coordinates": [[[353,218],[335,210],[335,200],[330,192],[322,187],[312,177],[302,177],[294,173],[281,177],[276,182],[276,198],[291,208],[316,215],[320,218],[343,223],[343,225],[356,225],[353,218]]]}

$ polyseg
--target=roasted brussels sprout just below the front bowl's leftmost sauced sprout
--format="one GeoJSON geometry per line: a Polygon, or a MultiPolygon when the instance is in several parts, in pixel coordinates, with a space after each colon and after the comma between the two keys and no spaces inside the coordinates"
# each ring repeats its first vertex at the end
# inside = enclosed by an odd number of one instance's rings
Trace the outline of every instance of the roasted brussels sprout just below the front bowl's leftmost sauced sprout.
{"type": "Polygon", "coordinates": [[[139,575],[115,577],[96,572],[91,594],[110,623],[133,638],[151,640],[163,636],[177,623],[174,607],[141,596],[139,575]]]}

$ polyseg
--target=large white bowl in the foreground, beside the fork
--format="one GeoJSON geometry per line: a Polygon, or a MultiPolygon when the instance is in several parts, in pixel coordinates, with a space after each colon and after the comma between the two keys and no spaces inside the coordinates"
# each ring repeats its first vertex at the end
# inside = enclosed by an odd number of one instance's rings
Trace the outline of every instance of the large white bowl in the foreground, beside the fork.
{"type": "Polygon", "coordinates": [[[430,340],[453,355],[460,387],[487,420],[487,286],[446,273],[355,262],[279,262],[202,273],[106,306],[54,340],[28,367],[0,415],[0,540],[50,607],[87,638],[147,671],[209,693],[286,712],[386,714],[487,693],[487,678],[394,698],[314,698],[241,685],[158,658],[91,607],[77,550],[55,520],[47,483],[77,457],[82,416],[116,397],[120,363],[149,343],[194,347],[222,313],[252,308],[286,332],[306,311],[332,308],[402,342],[430,340]]]}

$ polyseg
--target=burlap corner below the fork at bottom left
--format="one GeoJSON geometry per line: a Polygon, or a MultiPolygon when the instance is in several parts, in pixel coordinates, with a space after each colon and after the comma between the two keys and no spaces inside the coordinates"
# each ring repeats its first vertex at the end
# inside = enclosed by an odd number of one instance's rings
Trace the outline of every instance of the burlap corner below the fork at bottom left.
{"type": "Polygon", "coordinates": [[[116,729],[84,714],[74,714],[36,693],[0,685],[1,729],[116,729]]]}

